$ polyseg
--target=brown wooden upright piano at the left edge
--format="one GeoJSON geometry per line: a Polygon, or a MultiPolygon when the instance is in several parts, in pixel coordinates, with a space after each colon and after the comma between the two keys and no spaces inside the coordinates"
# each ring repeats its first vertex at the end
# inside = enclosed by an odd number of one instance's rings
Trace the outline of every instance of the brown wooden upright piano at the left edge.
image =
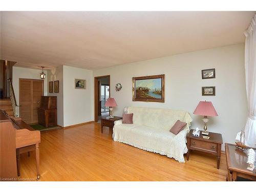
{"type": "Polygon", "coordinates": [[[39,143],[39,131],[35,131],[21,118],[8,116],[0,110],[0,178],[15,181],[19,175],[19,154],[35,150],[38,180],[39,143]]]}

